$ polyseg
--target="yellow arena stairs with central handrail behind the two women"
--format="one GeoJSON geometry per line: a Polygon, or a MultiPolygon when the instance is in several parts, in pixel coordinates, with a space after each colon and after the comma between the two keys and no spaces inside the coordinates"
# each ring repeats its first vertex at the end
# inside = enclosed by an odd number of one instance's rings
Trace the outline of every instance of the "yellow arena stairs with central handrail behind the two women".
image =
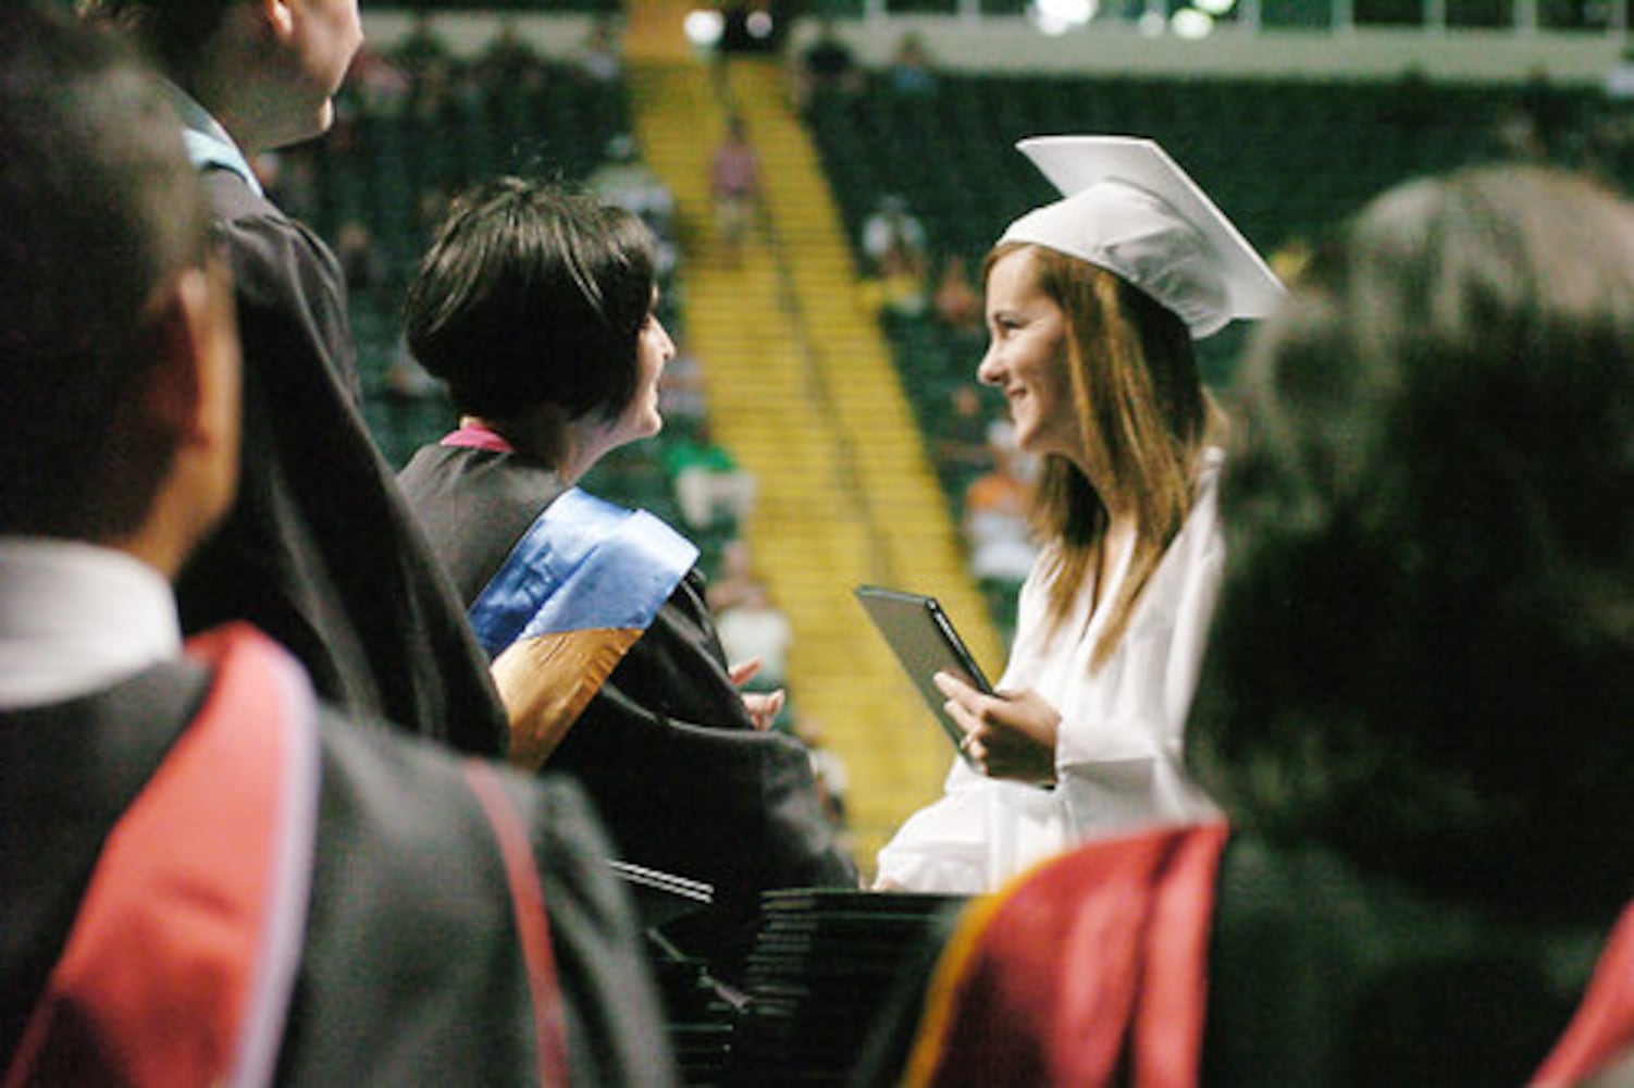
{"type": "Polygon", "coordinates": [[[675,190],[688,247],[683,314],[704,363],[714,435],[753,470],[745,536],[796,631],[791,691],[851,778],[864,866],[940,792],[949,750],[851,598],[879,582],[935,591],[977,657],[1002,663],[925,462],[879,327],[859,299],[840,217],[771,60],[637,62],[636,129],[675,190]],[[709,154],[724,100],[760,152],[766,216],[737,255],[712,242],[709,154]]]}

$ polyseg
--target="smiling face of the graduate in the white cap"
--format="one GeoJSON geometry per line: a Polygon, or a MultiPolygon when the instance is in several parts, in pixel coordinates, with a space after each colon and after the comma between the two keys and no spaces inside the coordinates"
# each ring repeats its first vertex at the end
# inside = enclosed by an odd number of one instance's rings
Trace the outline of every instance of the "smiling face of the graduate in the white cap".
{"type": "Polygon", "coordinates": [[[1072,405],[1067,314],[1038,283],[1036,250],[1000,256],[987,274],[987,354],[975,376],[1005,394],[1016,446],[1082,464],[1083,433],[1072,405]]]}

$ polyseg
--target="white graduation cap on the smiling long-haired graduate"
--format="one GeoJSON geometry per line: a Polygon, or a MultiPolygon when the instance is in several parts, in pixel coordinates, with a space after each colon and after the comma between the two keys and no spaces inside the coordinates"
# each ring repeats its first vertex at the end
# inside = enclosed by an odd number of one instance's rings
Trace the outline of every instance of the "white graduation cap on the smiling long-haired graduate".
{"type": "Polygon", "coordinates": [[[1265,317],[1283,284],[1214,201],[1152,140],[1038,136],[1016,144],[1062,199],[1000,242],[1029,242],[1116,273],[1175,312],[1193,340],[1265,317]]]}

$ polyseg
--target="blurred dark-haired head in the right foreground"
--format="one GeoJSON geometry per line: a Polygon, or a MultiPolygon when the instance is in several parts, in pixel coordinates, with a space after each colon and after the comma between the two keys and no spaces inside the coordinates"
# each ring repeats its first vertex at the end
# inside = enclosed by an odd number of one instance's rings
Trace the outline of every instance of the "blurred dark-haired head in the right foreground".
{"type": "Polygon", "coordinates": [[[1260,333],[1190,724],[1234,823],[1570,908],[1634,876],[1634,211],[1374,201],[1260,333]]]}

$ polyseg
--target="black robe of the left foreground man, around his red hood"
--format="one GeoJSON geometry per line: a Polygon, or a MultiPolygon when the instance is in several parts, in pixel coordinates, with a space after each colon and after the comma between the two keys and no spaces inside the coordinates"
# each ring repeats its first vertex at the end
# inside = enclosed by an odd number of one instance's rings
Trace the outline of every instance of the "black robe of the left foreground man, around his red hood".
{"type": "MultiPolygon", "coordinates": [[[[0,712],[0,1070],[109,828],[190,729],[214,676],[172,663],[90,698],[0,712]]],[[[278,1049],[291,1085],[518,1085],[538,1072],[505,866],[456,760],[319,720],[306,941],[278,1049]]],[[[672,1083],[657,997],[601,830],[569,781],[503,774],[533,846],[572,1083],[672,1083]]]]}

